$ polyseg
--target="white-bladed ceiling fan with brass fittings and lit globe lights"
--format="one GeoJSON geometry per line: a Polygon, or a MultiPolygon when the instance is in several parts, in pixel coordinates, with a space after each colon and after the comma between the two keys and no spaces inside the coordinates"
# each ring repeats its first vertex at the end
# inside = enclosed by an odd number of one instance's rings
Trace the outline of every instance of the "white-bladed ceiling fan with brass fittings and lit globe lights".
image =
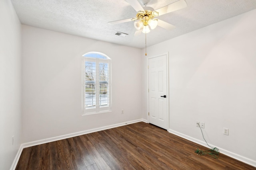
{"type": "Polygon", "coordinates": [[[187,3],[185,0],[178,0],[158,10],[154,10],[153,8],[147,6],[150,0],[140,0],[140,2],[144,5],[144,7],[140,5],[138,0],[126,0],[126,1],[132,6],[132,8],[134,8],[137,11],[136,17],[125,19],[125,20],[111,21],[108,23],[116,24],[116,23],[134,21],[134,27],[137,29],[134,35],[139,35],[141,32],[149,33],[150,29],[156,28],[157,25],[167,30],[171,30],[175,28],[174,25],[167,23],[165,21],[159,20],[155,17],[161,16],[176,10],[180,10],[182,8],[186,8],[187,6],[187,3]]]}

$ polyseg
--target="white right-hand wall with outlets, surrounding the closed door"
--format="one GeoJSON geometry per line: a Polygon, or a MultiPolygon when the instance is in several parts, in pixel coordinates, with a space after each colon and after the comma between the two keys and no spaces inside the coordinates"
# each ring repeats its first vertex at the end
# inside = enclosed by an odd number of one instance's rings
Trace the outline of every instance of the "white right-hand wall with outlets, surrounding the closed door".
{"type": "MultiPolygon", "coordinates": [[[[169,131],[204,141],[196,127],[196,121],[202,121],[208,143],[254,166],[255,18],[256,10],[252,10],[147,49],[148,56],[169,53],[169,131]],[[228,136],[223,135],[224,127],[229,129],[228,136]]],[[[146,57],[143,64],[146,77],[146,57]]],[[[145,106],[145,90],[143,100],[145,106]]]]}

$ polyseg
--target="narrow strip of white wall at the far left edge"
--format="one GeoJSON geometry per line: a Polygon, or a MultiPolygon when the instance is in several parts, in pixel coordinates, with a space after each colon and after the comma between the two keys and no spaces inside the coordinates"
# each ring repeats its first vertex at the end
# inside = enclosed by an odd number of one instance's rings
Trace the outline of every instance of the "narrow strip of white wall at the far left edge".
{"type": "Polygon", "coordinates": [[[7,170],[21,135],[21,28],[10,0],[0,1],[0,23],[0,169],[7,170]]]}

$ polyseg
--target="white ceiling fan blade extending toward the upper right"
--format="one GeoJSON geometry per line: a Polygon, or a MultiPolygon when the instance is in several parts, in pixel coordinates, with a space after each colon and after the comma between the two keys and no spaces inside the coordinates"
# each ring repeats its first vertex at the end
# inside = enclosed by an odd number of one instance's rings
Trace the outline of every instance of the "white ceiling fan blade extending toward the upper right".
{"type": "Polygon", "coordinates": [[[164,6],[160,9],[156,10],[156,12],[159,12],[158,16],[161,16],[161,15],[167,14],[169,12],[180,10],[180,9],[186,8],[186,7],[187,7],[186,1],[185,0],[179,0],[177,2],[174,2],[172,4],[169,4],[167,6],[164,6]]]}

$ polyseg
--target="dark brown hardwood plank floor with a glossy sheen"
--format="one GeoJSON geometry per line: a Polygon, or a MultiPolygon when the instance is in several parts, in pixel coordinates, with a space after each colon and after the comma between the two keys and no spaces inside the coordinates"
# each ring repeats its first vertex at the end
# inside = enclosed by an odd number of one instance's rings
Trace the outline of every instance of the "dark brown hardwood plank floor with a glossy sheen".
{"type": "Polygon", "coordinates": [[[16,170],[256,170],[196,143],[139,122],[23,149],[16,170]]]}

